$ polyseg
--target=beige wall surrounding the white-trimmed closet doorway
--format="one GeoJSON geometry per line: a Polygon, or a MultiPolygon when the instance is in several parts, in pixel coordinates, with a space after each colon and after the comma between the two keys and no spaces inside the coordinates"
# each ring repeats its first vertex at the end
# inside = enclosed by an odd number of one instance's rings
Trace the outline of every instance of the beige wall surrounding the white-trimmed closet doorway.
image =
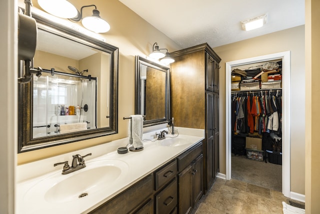
{"type": "Polygon", "coordinates": [[[290,191],[304,194],[304,26],[213,48],[220,63],[220,172],[225,173],[225,62],[290,51],[290,191]]]}

